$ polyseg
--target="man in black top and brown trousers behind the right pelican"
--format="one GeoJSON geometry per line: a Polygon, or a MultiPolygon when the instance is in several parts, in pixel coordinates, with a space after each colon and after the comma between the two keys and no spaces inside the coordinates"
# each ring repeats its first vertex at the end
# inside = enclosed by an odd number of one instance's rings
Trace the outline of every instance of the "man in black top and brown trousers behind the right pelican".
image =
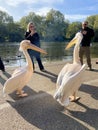
{"type": "Polygon", "coordinates": [[[79,57],[80,62],[83,65],[83,56],[85,54],[88,70],[92,70],[91,57],[90,57],[90,44],[91,40],[94,37],[94,30],[88,27],[88,21],[82,23],[83,39],[80,44],[79,57]]]}

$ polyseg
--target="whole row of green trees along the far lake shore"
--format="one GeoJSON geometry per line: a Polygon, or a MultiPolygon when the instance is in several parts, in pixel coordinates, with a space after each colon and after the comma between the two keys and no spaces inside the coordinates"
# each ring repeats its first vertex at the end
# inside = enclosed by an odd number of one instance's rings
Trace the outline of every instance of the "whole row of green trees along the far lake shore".
{"type": "MultiPolygon", "coordinates": [[[[89,16],[86,19],[89,26],[94,29],[94,41],[98,41],[98,15],[89,16]]],[[[13,17],[6,12],[0,11],[0,42],[19,42],[24,39],[27,24],[33,22],[44,41],[64,41],[72,39],[81,29],[81,22],[65,20],[60,11],[51,9],[46,16],[39,16],[30,12],[18,22],[13,21],[13,17]]]]}

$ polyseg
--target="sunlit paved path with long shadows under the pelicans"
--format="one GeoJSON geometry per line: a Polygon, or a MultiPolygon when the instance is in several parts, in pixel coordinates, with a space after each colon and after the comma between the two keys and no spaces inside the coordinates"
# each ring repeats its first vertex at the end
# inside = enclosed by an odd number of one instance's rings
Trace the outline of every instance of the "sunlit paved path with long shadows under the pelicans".
{"type": "Polygon", "coordinates": [[[31,81],[24,88],[29,96],[18,98],[15,93],[3,97],[2,88],[14,67],[0,72],[0,130],[98,130],[98,65],[85,70],[78,95],[81,99],[66,108],[54,100],[57,75],[64,62],[45,63],[46,72],[37,65],[31,81]]]}

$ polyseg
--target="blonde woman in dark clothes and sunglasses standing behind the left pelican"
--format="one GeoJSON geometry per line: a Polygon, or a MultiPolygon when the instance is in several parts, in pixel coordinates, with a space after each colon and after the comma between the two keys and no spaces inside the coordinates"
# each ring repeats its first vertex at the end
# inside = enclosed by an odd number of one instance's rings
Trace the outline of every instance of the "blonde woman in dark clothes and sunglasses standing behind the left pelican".
{"type": "MultiPolygon", "coordinates": [[[[28,25],[27,25],[25,39],[30,40],[32,44],[36,45],[37,47],[40,47],[39,34],[36,32],[36,28],[32,22],[28,23],[28,25]]],[[[38,62],[40,70],[44,71],[44,66],[43,66],[42,61],[41,61],[40,53],[33,51],[33,50],[30,50],[30,49],[28,50],[28,53],[29,53],[31,60],[32,60],[33,69],[35,70],[34,59],[33,59],[33,57],[35,57],[37,62],[38,62]]]]}

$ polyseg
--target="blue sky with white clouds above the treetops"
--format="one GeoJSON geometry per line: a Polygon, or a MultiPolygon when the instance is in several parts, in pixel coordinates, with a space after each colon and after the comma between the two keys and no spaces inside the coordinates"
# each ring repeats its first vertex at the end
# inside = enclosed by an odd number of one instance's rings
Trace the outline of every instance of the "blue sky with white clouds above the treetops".
{"type": "Polygon", "coordinates": [[[98,0],[0,0],[0,10],[19,21],[30,12],[45,16],[50,9],[60,11],[65,20],[83,21],[98,14],[98,0]]]}

